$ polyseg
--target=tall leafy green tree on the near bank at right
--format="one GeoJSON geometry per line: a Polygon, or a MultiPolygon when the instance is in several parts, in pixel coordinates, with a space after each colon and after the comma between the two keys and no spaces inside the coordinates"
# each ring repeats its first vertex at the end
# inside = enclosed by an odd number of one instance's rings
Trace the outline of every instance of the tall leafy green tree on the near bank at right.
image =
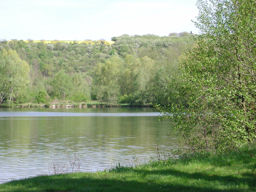
{"type": "Polygon", "coordinates": [[[175,132],[194,149],[221,149],[256,138],[256,2],[198,0],[198,47],[171,82],[183,102],[165,108],[175,132]],[[172,115],[170,115],[172,114],[172,115]]]}

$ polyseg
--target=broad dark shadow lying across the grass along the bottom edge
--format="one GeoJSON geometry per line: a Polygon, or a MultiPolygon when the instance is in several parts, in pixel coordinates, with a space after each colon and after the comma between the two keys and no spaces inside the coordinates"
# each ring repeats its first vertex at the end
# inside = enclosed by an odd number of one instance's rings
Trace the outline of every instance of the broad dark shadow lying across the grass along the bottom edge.
{"type": "MultiPolygon", "coordinates": [[[[127,172],[131,172],[127,171],[127,172]]],[[[68,175],[52,175],[28,178],[25,180],[13,181],[0,185],[0,191],[255,191],[255,174],[246,175],[247,178],[236,178],[232,176],[209,176],[202,173],[188,174],[178,172],[173,169],[165,171],[142,171],[133,170],[130,174],[123,175],[120,173],[75,173],[68,175]],[[134,175],[139,175],[133,179],[134,175]],[[189,182],[172,182],[166,180],[165,183],[159,182],[157,175],[176,176],[179,178],[187,178],[190,180],[205,180],[218,181],[218,185],[208,186],[190,184],[189,182]],[[148,176],[154,176],[155,180],[148,179],[148,176]],[[143,178],[146,177],[146,178],[143,178]],[[244,187],[245,183],[247,187],[244,187]],[[8,188],[8,186],[12,186],[8,188]],[[243,188],[241,187],[243,186],[243,188]],[[6,188],[6,190],[4,190],[6,188]]],[[[169,178],[169,177],[166,177],[169,178]]],[[[187,180],[186,179],[186,180],[187,180]]],[[[184,180],[184,181],[186,181],[184,180]]],[[[189,180],[189,181],[190,181],[189,180]]]]}

